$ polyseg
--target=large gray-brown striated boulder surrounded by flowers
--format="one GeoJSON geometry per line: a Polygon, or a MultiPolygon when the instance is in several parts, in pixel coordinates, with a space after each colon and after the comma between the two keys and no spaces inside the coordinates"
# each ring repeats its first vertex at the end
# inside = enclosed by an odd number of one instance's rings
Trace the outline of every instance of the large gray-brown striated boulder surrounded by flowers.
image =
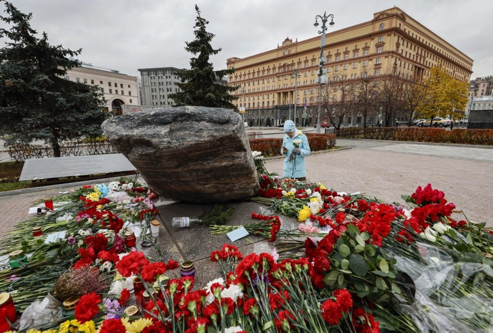
{"type": "Polygon", "coordinates": [[[250,144],[242,118],[234,111],[155,109],[107,119],[102,127],[161,196],[211,203],[257,192],[250,144]]]}

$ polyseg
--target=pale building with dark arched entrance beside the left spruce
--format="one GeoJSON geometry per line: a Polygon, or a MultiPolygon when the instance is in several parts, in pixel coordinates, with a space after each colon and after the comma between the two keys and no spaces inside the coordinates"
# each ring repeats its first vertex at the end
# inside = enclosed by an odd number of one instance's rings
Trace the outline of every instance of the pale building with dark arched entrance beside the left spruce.
{"type": "Polygon", "coordinates": [[[81,67],[67,71],[65,78],[70,81],[97,85],[106,100],[105,111],[114,115],[122,114],[122,105],[140,104],[137,77],[118,71],[80,62],[81,67]]]}

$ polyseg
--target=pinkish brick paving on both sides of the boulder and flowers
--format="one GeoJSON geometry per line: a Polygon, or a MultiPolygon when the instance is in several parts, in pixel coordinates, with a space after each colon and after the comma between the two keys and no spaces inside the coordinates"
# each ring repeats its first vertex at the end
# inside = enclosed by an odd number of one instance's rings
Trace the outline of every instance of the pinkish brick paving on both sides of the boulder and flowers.
{"type": "MultiPolygon", "coordinates": [[[[469,220],[487,222],[493,227],[493,161],[372,149],[392,145],[390,142],[338,140],[338,145],[354,147],[307,158],[310,181],[349,193],[360,191],[392,202],[402,202],[401,194],[411,194],[417,186],[431,183],[434,188],[444,191],[449,202],[463,210],[469,220]]],[[[282,175],[282,159],[268,160],[267,169],[282,175]]],[[[33,217],[28,214],[28,209],[35,200],[68,189],[0,196],[0,239],[17,222],[33,217]]]]}

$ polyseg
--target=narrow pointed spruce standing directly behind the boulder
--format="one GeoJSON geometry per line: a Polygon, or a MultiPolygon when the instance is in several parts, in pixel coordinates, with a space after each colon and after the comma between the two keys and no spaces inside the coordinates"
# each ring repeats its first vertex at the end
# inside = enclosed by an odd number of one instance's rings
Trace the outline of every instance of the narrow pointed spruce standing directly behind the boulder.
{"type": "Polygon", "coordinates": [[[190,70],[177,71],[181,83],[177,83],[180,92],[170,94],[170,98],[175,102],[175,106],[194,105],[213,108],[226,108],[238,110],[231,103],[238,97],[230,95],[239,86],[223,86],[218,82],[226,74],[233,74],[234,69],[214,71],[209,62],[211,55],[219,53],[220,48],[213,49],[211,46],[213,34],[206,31],[209,21],[200,16],[200,10],[195,5],[197,18],[195,19],[196,30],[194,31],[195,40],[185,42],[185,50],[197,57],[190,58],[190,70]]]}

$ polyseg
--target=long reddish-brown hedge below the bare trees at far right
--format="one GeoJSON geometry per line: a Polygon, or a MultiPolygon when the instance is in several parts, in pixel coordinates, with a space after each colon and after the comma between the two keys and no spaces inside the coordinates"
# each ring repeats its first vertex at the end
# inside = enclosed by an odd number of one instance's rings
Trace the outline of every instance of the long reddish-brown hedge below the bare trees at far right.
{"type": "Polygon", "coordinates": [[[493,130],[419,127],[347,127],[337,134],[339,138],[435,142],[448,144],[493,146],[493,130]]]}

